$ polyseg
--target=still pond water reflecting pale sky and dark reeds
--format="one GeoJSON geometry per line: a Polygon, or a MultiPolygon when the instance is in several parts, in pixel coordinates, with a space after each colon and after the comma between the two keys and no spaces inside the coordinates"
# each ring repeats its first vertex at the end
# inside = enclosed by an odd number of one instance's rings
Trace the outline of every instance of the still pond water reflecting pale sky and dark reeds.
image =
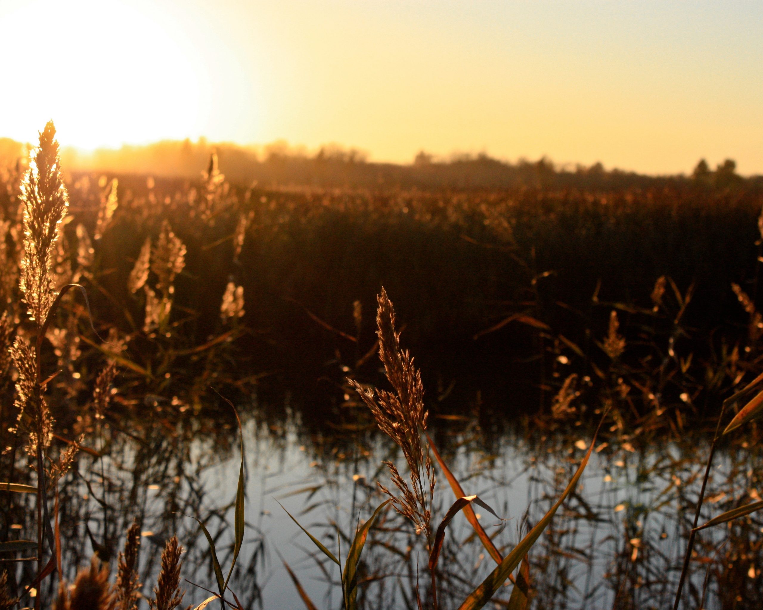
{"type": "MultiPolygon", "coordinates": [[[[387,483],[381,460],[401,462],[396,448],[368,425],[359,406],[349,409],[356,425],[327,422],[311,433],[299,411],[276,425],[259,413],[256,402],[239,408],[246,446],[246,537],[231,589],[247,608],[301,607],[283,560],[319,607],[340,607],[336,567],[315,551],[278,503],[327,547],[336,551],[339,544],[344,554],[356,520],[367,519],[383,500],[375,481],[387,483]]],[[[113,567],[133,519],[143,531],[145,596],[151,594],[163,543],[171,535],[185,546],[183,576],[195,583],[185,583],[185,601],[208,597],[201,587],[215,589],[207,541],[184,515],[204,522],[224,570],[230,565],[240,459],[235,419],[223,410],[215,417],[179,408],[168,415],[168,410],[140,424],[112,421],[112,415],[92,425],[85,442],[97,457],[82,453],[59,490],[63,568],[70,582],[93,552],[113,567]]],[[[436,420],[433,429],[436,445],[465,491],[478,493],[507,519],[481,515],[504,554],[559,497],[591,432],[587,424],[574,423],[543,432],[537,420],[526,420],[494,436],[485,434],[478,419],[465,416],[436,420]]],[[[696,438],[664,435],[641,447],[618,442],[615,435],[597,441],[581,485],[530,553],[533,608],[671,605],[707,455],[701,438],[700,433],[696,438]]],[[[758,499],[759,472],[756,446],[724,448],[713,467],[703,521],[758,499]]],[[[441,517],[454,496],[440,479],[435,507],[441,517]]],[[[12,496],[4,499],[12,502],[6,539],[31,538],[34,499],[12,496]]],[[[703,531],[692,562],[687,596],[692,605],[700,606],[709,574],[703,607],[759,607],[761,528],[763,522],[753,514],[730,528],[703,531]]],[[[386,512],[364,551],[361,607],[415,608],[417,575],[422,597],[427,596],[426,563],[421,537],[393,511],[386,512]]],[[[17,582],[31,580],[33,562],[13,565],[17,582]]],[[[460,515],[448,530],[440,567],[443,608],[457,607],[494,567],[460,515]]],[[[497,594],[496,607],[505,605],[509,593],[510,586],[497,594]]]]}

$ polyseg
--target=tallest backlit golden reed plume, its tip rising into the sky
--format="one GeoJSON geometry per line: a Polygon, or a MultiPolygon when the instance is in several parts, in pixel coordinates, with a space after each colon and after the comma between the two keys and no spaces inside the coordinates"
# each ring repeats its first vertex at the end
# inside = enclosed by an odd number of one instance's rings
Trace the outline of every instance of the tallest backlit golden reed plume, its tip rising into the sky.
{"type": "Polygon", "coordinates": [[[48,121],[40,132],[34,163],[21,183],[24,206],[24,258],[21,259],[21,292],[29,316],[42,324],[56,295],[51,281],[53,255],[61,220],[69,207],[63,185],[56,128],[48,121]]]}

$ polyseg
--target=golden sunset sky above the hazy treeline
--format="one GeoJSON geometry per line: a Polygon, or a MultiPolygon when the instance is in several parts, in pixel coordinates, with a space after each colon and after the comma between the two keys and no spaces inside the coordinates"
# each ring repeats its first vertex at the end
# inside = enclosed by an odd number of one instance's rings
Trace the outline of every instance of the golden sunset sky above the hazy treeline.
{"type": "Polygon", "coordinates": [[[0,136],[763,174],[763,2],[0,0],[0,136]]]}

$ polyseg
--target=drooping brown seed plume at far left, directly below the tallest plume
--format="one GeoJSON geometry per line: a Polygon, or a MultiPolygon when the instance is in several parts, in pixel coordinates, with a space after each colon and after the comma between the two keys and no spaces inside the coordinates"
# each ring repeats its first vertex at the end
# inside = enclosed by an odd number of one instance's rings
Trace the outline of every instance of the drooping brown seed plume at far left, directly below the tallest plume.
{"type": "MultiPolygon", "coordinates": [[[[11,358],[18,371],[16,380],[16,401],[18,418],[14,432],[27,435],[26,451],[37,457],[37,445],[47,449],[53,437],[53,417],[47,407],[40,384],[37,382],[37,362],[34,348],[21,337],[16,337],[11,346],[11,358]]],[[[33,462],[33,468],[37,468],[33,462]]]]}

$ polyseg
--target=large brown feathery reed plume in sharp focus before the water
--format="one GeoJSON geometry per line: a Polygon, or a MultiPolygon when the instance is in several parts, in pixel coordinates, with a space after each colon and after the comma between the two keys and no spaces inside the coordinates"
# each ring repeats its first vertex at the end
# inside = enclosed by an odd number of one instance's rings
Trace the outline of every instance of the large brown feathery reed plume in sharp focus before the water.
{"type": "Polygon", "coordinates": [[[394,308],[384,288],[381,289],[377,301],[376,334],[379,338],[379,358],[385,366],[387,379],[394,387],[395,393],[366,389],[351,379],[348,379],[348,382],[371,409],[381,432],[388,435],[403,450],[410,468],[408,486],[397,467],[391,462],[385,462],[390,470],[392,482],[400,492],[399,496],[395,496],[381,483],[377,482],[377,485],[391,498],[394,509],[413,522],[416,533],[424,531],[429,541],[436,477],[429,451],[425,451],[420,437],[421,432],[427,429],[429,412],[424,409],[424,390],[419,371],[414,368],[414,359],[407,351],[401,352],[400,333],[394,329],[394,308]]]}

